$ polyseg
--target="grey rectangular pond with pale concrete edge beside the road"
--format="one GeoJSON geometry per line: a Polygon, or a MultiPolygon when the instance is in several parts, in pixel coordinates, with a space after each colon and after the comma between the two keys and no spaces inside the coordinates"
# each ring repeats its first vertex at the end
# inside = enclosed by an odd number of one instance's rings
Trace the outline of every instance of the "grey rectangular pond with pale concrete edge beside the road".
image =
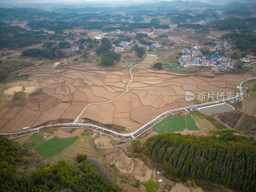
{"type": "Polygon", "coordinates": [[[212,105],[210,107],[202,107],[202,108],[198,108],[199,111],[201,111],[202,113],[206,114],[206,115],[212,115],[214,113],[222,113],[225,111],[231,111],[234,108],[230,105],[227,105],[226,103],[221,103],[221,104],[217,104],[217,105],[212,105]]]}

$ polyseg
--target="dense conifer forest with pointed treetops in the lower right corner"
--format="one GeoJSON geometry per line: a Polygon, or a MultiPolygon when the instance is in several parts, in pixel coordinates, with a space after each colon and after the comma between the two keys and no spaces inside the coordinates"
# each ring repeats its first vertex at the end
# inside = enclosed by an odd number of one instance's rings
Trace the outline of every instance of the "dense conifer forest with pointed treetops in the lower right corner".
{"type": "Polygon", "coordinates": [[[182,180],[204,179],[236,190],[256,191],[253,138],[233,133],[219,138],[167,133],[148,138],[143,146],[135,141],[133,146],[135,152],[141,151],[182,180]]]}

